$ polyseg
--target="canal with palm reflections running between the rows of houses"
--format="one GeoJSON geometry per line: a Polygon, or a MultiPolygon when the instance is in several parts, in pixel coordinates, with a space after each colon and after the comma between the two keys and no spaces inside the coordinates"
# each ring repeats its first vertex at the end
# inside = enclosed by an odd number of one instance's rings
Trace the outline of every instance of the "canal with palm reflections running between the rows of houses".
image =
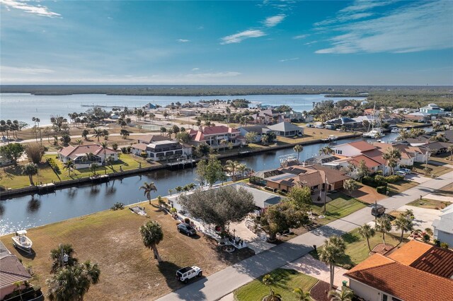
{"type": "MultiPolygon", "coordinates": [[[[427,128],[426,130],[430,130],[427,128]]],[[[394,141],[398,134],[388,133],[383,141],[394,141]]],[[[338,143],[348,143],[362,138],[348,138],[338,143]]],[[[367,139],[373,141],[373,139],[367,139]]],[[[306,160],[317,155],[320,148],[326,143],[316,143],[304,146],[300,160],[306,160]]],[[[251,157],[238,158],[253,170],[268,170],[280,166],[279,157],[294,153],[292,148],[279,151],[260,153],[251,157]]],[[[196,168],[184,170],[156,170],[143,175],[115,179],[110,182],[96,185],[85,185],[60,189],[51,194],[21,196],[6,201],[0,201],[0,235],[18,229],[28,229],[60,220],[84,216],[86,214],[103,211],[110,208],[115,202],[125,204],[137,203],[146,199],[143,190],[139,187],[143,182],[154,182],[157,187],[152,195],[166,196],[168,189],[197,182],[196,168]]]]}

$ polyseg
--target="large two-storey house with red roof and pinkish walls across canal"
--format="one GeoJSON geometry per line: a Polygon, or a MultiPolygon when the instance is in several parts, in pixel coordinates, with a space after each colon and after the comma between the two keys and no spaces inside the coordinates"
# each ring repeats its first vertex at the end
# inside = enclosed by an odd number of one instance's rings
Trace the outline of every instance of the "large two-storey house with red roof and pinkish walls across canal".
{"type": "Polygon", "coordinates": [[[200,126],[198,131],[190,129],[188,131],[191,140],[190,143],[198,146],[200,143],[206,143],[214,149],[224,148],[221,141],[232,143],[233,146],[243,146],[246,144],[246,138],[241,135],[237,129],[228,126],[200,126]]]}

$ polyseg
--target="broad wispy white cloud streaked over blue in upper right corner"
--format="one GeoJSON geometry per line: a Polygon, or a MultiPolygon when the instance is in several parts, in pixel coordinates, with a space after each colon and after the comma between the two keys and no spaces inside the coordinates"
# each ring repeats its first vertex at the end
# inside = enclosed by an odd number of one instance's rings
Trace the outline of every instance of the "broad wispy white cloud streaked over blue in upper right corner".
{"type": "Polygon", "coordinates": [[[316,53],[403,53],[451,48],[452,16],[453,6],[448,1],[401,6],[385,16],[331,26],[331,31],[341,34],[328,40],[331,47],[316,53]]]}

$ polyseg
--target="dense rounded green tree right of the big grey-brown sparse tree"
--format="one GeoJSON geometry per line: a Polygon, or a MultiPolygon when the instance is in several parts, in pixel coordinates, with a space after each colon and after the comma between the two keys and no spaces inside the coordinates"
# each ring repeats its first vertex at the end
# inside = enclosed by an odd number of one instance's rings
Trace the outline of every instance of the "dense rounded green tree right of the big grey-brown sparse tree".
{"type": "Polygon", "coordinates": [[[282,233],[291,228],[299,228],[309,224],[309,218],[302,210],[298,210],[291,201],[282,201],[277,205],[266,208],[260,218],[260,223],[269,240],[275,241],[277,233],[282,233]]]}

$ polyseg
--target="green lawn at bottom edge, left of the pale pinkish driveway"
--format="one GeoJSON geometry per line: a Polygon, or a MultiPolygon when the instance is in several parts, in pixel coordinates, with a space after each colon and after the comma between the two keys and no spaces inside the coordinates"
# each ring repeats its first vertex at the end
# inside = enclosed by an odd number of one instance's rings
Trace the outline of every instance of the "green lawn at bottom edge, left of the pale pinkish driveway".
{"type": "MultiPolygon", "coordinates": [[[[294,288],[301,288],[302,290],[304,290],[304,292],[308,292],[311,287],[318,282],[316,278],[284,268],[277,268],[274,271],[270,272],[270,275],[275,281],[275,283],[273,285],[270,285],[270,287],[273,288],[275,293],[280,294],[282,296],[282,300],[285,301],[298,300],[297,295],[292,293],[292,290],[294,290],[294,288]]],[[[261,282],[262,278],[263,277],[260,277],[252,281],[251,283],[247,283],[241,288],[235,290],[235,300],[263,300],[263,297],[269,294],[269,288],[261,282]]]]}

